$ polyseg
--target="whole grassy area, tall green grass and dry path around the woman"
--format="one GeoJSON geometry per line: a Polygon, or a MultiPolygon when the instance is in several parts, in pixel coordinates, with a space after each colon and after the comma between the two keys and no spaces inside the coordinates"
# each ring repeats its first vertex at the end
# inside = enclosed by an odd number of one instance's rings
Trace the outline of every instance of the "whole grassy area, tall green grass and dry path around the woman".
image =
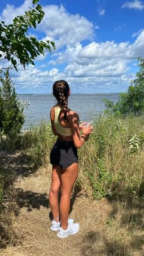
{"type": "Polygon", "coordinates": [[[143,255],[143,117],[95,121],[93,134],[79,149],[79,177],[71,197],[70,216],[80,231],[65,240],[49,229],[54,141],[49,125],[41,123],[18,138],[15,153],[1,150],[1,168],[15,176],[12,185],[2,185],[7,189],[1,255],[143,255]]]}

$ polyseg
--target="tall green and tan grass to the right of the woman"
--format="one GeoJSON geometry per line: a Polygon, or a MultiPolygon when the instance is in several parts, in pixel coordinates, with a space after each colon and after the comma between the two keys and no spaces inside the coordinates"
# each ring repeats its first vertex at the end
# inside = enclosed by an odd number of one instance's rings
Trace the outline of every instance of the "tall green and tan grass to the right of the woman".
{"type": "Polygon", "coordinates": [[[79,183],[88,196],[130,200],[139,195],[144,176],[143,126],[143,118],[133,115],[110,115],[94,123],[93,134],[79,150],[79,183]]]}

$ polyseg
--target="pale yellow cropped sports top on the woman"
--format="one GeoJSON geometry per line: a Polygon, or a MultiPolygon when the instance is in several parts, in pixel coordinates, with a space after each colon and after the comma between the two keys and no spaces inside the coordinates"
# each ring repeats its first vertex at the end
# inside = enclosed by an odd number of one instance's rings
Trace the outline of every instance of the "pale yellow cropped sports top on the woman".
{"type": "Polygon", "coordinates": [[[59,133],[62,136],[70,136],[72,135],[71,128],[63,127],[60,125],[59,122],[59,112],[62,108],[60,107],[55,107],[55,118],[54,118],[54,127],[56,128],[57,133],[59,133]]]}

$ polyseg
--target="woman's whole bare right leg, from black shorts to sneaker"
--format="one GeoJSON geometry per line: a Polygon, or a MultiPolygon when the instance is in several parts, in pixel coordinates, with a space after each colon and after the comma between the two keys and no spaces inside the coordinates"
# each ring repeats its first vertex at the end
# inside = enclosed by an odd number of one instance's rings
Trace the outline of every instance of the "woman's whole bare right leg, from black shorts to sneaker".
{"type": "Polygon", "coordinates": [[[68,228],[68,215],[70,211],[70,197],[71,191],[73,189],[74,182],[76,181],[78,175],[78,164],[74,163],[65,170],[62,170],[60,174],[60,219],[61,227],[63,230],[68,228]]]}

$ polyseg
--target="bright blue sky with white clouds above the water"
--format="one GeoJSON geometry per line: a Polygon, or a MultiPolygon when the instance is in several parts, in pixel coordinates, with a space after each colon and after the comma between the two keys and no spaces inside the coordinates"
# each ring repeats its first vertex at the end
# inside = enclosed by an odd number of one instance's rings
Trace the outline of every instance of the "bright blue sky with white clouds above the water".
{"type": "MultiPolygon", "coordinates": [[[[40,0],[43,21],[29,35],[54,40],[56,50],[35,66],[10,71],[17,93],[51,93],[65,79],[72,93],[126,92],[144,58],[144,0],[40,0]]],[[[12,23],[32,0],[1,0],[0,21],[12,23]]],[[[0,67],[5,62],[0,60],[0,67]]]]}

